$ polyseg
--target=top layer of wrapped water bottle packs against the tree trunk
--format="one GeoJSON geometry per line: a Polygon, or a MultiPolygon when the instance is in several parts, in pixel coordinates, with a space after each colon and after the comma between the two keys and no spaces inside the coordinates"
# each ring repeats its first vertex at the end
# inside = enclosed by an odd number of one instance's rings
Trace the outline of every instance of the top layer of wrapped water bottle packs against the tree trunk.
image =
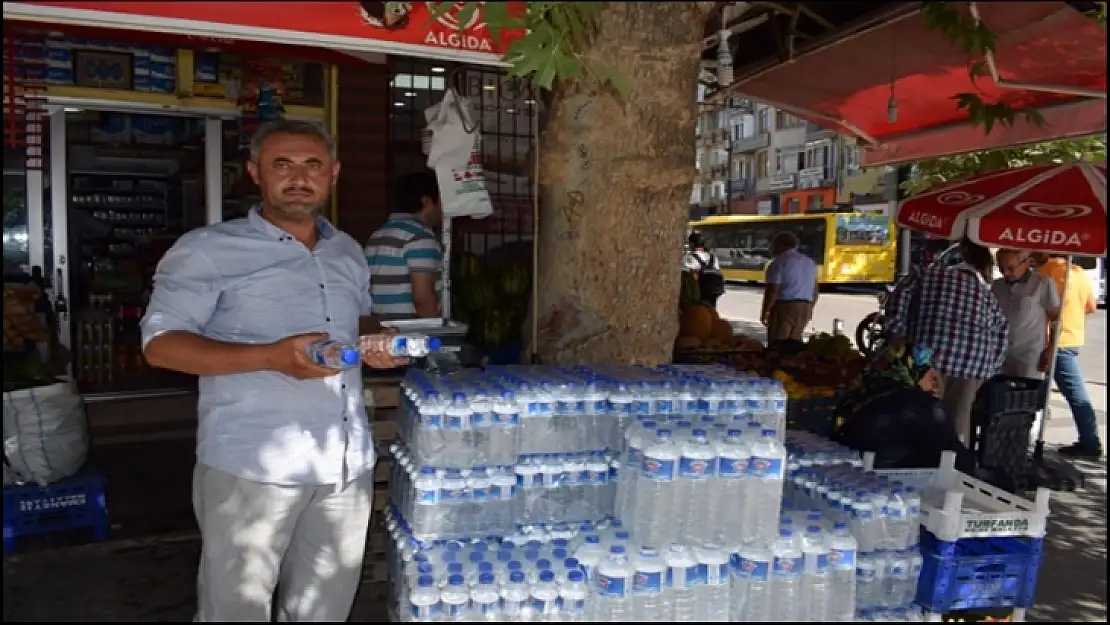
{"type": "Polygon", "coordinates": [[[725,367],[503,366],[410,370],[398,435],[420,466],[515,464],[519,456],[619,451],[637,417],[746,415],[783,432],[786,393],[725,367]]]}

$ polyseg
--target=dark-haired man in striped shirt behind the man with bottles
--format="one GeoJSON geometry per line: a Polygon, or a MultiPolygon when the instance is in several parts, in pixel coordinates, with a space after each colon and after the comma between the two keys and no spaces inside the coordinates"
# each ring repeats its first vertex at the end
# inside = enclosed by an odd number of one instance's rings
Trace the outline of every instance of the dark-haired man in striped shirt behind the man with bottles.
{"type": "Polygon", "coordinates": [[[402,177],[394,200],[397,212],[366,242],[373,313],[383,320],[440,316],[443,251],[432,229],[443,221],[443,204],[435,174],[402,177]]]}

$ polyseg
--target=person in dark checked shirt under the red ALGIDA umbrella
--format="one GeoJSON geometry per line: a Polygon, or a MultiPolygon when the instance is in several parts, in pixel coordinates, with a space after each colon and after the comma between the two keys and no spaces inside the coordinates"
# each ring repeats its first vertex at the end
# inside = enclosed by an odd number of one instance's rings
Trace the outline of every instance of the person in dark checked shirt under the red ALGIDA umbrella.
{"type": "Polygon", "coordinates": [[[1009,323],[990,292],[990,251],[965,239],[956,266],[934,263],[887,301],[891,344],[935,350],[940,402],[965,445],[971,443],[971,407],[979,387],[1002,366],[1009,323]]]}

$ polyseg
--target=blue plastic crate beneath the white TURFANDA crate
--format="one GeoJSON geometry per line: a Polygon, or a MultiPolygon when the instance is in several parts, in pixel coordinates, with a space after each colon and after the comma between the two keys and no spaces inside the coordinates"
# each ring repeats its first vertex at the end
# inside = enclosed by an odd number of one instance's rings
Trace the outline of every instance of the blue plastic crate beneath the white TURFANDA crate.
{"type": "Polygon", "coordinates": [[[1032,607],[1042,555],[1042,538],[949,542],[922,530],[917,604],[935,613],[1032,607]]]}

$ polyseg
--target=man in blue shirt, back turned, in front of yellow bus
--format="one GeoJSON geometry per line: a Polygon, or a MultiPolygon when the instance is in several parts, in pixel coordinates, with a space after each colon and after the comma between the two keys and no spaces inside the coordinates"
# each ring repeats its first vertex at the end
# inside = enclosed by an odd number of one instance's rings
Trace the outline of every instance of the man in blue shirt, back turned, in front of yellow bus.
{"type": "Polygon", "coordinates": [[[817,305],[817,263],[798,252],[798,238],[780,232],[771,240],[775,260],[767,265],[760,321],[767,344],[785,339],[801,341],[817,305]]]}

